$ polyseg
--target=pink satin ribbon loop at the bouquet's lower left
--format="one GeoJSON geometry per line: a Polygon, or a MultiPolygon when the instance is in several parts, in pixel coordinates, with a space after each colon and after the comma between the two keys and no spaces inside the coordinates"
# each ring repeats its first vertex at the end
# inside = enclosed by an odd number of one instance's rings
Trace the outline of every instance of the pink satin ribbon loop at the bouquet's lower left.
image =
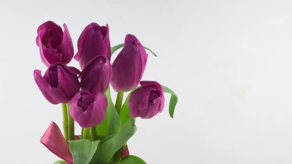
{"type": "Polygon", "coordinates": [[[49,124],[48,129],[41,139],[41,143],[59,158],[65,160],[69,164],[73,164],[73,157],[70,153],[69,145],[56,123],[51,122],[49,124]]]}

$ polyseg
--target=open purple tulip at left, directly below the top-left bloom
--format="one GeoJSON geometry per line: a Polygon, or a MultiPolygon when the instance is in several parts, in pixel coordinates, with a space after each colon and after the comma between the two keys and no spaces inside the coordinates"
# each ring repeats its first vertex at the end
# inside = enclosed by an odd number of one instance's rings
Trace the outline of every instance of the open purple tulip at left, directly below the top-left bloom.
{"type": "Polygon", "coordinates": [[[35,70],[34,79],[50,103],[68,103],[80,89],[78,74],[77,68],[55,63],[49,66],[44,77],[40,70],[35,70]]]}

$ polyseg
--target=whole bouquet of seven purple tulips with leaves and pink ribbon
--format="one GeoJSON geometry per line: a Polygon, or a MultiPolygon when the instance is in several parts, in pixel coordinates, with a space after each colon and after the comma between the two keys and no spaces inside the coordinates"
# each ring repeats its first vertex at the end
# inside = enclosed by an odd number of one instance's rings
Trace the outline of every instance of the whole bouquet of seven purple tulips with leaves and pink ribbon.
{"type": "Polygon", "coordinates": [[[34,80],[51,104],[62,106],[63,133],[51,122],[41,139],[63,160],[54,164],[146,164],[128,151],[127,141],[137,130],[136,118],[150,119],[162,112],[165,92],[171,94],[169,114],[173,118],[178,100],[166,86],[141,81],[146,50],[154,52],[130,34],[124,43],[111,47],[108,25],[91,23],[81,33],[74,56],[67,25],[63,26],[64,31],[52,21],[45,22],[36,38],[48,69],[44,76],[35,70],[34,80]],[[120,48],[111,63],[111,55],[120,48]],[[82,71],[67,66],[73,56],[82,71]],[[109,84],[117,92],[115,105],[109,84]],[[124,92],[129,94],[123,103],[124,92]],[[75,135],[75,122],[81,126],[81,135],[75,135]]]}

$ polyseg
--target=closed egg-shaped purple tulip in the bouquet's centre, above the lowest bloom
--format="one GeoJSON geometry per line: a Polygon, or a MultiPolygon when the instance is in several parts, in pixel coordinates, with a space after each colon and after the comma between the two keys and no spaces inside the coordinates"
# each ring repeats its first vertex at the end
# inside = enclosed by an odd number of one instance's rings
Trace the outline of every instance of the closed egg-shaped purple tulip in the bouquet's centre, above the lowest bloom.
{"type": "Polygon", "coordinates": [[[81,89],[94,94],[105,93],[109,85],[111,72],[110,61],[102,55],[96,56],[80,74],[81,89]]]}

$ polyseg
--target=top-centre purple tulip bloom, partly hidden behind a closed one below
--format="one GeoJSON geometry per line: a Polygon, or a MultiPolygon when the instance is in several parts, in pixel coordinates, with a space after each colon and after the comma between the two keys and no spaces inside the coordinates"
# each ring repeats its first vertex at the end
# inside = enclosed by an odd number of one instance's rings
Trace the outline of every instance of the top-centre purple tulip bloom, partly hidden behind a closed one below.
{"type": "Polygon", "coordinates": [[[77,42],[78,52],[74,56],[83,69],[94,57],[103,55],[110,60],[108,25],[91,23],[85,27],[77,42]]]}

